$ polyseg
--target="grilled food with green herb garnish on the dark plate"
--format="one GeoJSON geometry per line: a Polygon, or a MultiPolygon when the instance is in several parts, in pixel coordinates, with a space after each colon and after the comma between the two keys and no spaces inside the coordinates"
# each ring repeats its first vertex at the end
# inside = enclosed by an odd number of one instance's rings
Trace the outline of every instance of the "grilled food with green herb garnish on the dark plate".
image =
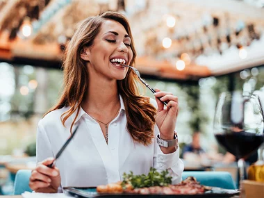
{"type": "Polygon", "coordinates": [[[168,172],[157,172],[151,168],[149,174],[133,175],[133,172],[123,175],[123,181],[97,186],[99,193],[132,193],[132,194],[163,194],[163,195],[195,195],[202,194],[210,187],[201,185],[193,176],[189,176],[181,183],[172,185],[172,177],[168,172]]]}

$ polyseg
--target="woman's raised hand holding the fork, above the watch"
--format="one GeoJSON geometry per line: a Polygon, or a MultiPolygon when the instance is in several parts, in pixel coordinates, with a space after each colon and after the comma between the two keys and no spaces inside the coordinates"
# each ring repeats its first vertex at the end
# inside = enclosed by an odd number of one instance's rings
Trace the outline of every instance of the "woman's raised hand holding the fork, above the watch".
{"type": "Polygon", "coordinates": [[[173,140],[176,126],[176,118],[179,112],[178,97],[170,92],[163,92],[155,89],[156,101],[158,104],[158,113],[156,115],[156,124],[160,129],[160,138],[163,140],[173,140]],[[160,97],[160,100],[158,99],[160,97]],[[167,107],[162,101],[167,102],[167,107]]]}

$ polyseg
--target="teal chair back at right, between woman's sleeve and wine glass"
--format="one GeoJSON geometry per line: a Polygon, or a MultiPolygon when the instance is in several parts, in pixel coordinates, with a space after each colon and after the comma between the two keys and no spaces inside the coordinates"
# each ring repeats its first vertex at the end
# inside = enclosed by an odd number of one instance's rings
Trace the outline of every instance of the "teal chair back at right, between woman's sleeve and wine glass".
{"type": "Polygon", "coordinates": [[[201,185],[214,186],[226,189],[236,189],[236,185],[229,172],[213,171],[185,171],[182,174],[183,180],[188,176],[194,176],[201,185]]]}

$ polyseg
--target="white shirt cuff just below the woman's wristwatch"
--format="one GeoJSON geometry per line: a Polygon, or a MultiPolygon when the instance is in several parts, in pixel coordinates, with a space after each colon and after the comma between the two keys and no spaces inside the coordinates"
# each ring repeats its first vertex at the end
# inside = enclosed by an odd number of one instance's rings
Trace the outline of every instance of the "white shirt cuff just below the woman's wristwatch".
{"type": "Polygon", "coordinates": [[[157,167],[160,169],[168,169],[178,163],[179,147],[172,154],[163,154],[160,147],[157,148],[157,167]]]}

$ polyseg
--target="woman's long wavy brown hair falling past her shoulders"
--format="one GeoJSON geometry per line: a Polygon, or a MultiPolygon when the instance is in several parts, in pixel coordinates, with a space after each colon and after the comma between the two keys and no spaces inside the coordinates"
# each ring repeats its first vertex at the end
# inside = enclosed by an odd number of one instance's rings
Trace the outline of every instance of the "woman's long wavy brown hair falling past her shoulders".
{"type": "MultiPolygon", "coordinates": [[[[65,50],[63,93],[58,104],[47,112],[49,113],[52,110],[69,106],[69,110],[60,117],[61,122],[65,126],[65,121],[77,110],[70,131],[72,131],[72,126],[79,114],[81,102],[88,88],[88,68],[86,67],[85,61],[81,58],[81,51],[83,47],[89,47],[93,44],[94,38],[100,31],[102,22],[106,19],[119,22],[126,29],[126,32],[131,38],[131,49],[133,51],[133,58],[130,65],[132,66],[135,63],[136,52],[131,29],[129,22],[122,14],[106,12],[96,17],[88,17],[83,21],[67,44],[65,50]]],[[[129,69],[126,77],[123,80],[117,81],[117,88],[124,100],[127,130],[135,142],[149,145],[152,142],[151,138],[154,138],[156,108],[149,103],[148,97],[140,96],[137,81],[137,76],[129,69]]]]}

